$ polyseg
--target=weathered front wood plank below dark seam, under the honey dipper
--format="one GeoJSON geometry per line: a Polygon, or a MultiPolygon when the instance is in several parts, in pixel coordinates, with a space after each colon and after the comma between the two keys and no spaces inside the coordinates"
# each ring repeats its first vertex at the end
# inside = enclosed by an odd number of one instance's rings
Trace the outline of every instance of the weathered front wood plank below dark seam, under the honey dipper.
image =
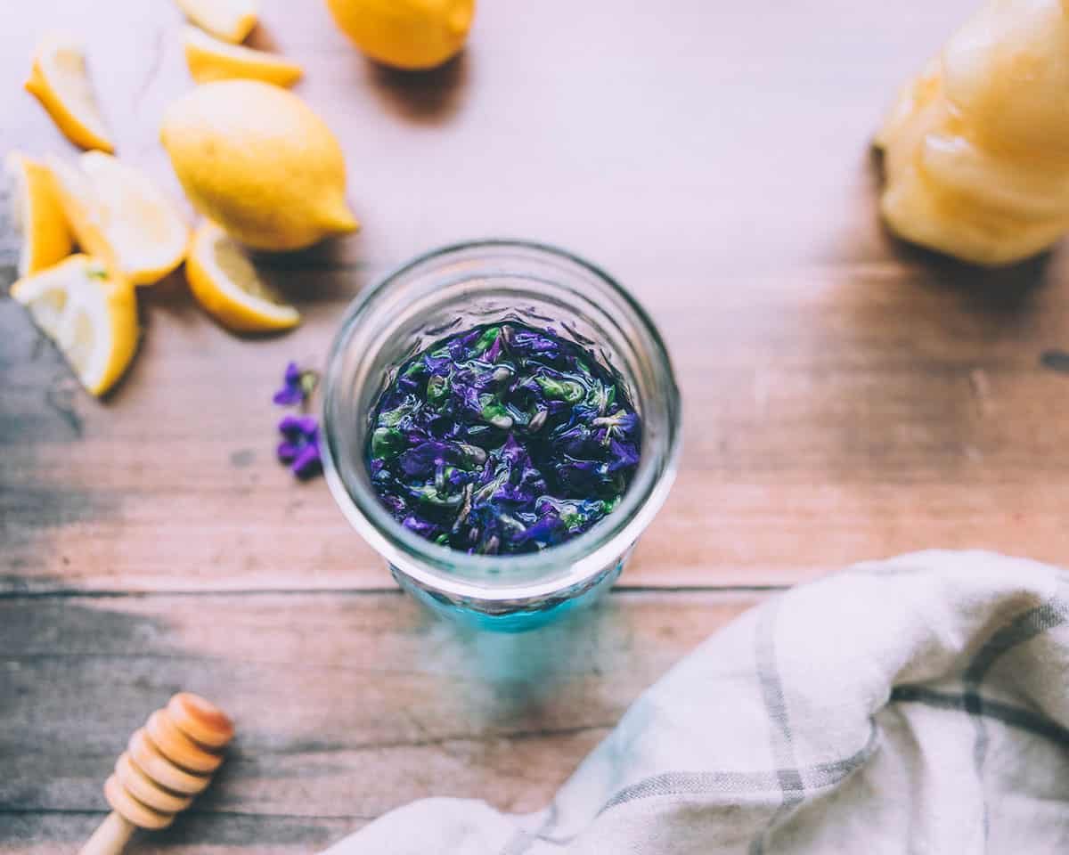
{"type": "Polygon", "coordinates": [[[81,839],[129,734],[180,687],[217,699],[238,735],[158,837],[168,851],[310,851],[429,795],[536,809],[648,684],[754,602],[617,593],[500,637],[400,594],[0,600],[0,848],[81,839]]]}

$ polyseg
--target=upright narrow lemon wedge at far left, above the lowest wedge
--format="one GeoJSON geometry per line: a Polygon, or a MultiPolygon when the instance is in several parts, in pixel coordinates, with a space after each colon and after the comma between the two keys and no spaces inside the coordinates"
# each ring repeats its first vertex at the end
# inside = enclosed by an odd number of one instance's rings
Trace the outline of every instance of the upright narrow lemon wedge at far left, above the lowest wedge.
{"type": "Polygon", "coordinates": [[[18,275],[51,267],[71,254],[74,242],[48,167],[20,152],[7,155],[12,220],[22,237],[18,275]]]}

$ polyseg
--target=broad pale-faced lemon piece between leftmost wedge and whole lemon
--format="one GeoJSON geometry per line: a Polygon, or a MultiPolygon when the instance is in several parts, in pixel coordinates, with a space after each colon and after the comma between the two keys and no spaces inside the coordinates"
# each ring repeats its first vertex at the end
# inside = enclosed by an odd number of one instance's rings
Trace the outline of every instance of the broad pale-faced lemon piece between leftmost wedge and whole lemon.
{"type": "Polygon", "coordinates": [[[48,166],[79,246],[118,276],[146,285],[182,263],[189,228],[144,173],[103,152],[48,166]]]}

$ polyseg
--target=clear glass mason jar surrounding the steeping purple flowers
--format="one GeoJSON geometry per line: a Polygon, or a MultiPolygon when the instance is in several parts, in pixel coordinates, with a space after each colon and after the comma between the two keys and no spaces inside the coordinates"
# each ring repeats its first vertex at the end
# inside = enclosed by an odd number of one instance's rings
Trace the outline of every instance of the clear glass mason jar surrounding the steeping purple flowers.
{"type": "Polygon", "coordinates": [[[323,458],[342,512],[404,589],[463,623],[516,632],[613,585],[671,486],[680,424],[668,354],[634,297],[563,250],[483,240],[421,255],[348,307],[324,380],[323,458]],[[452,332],[509,320],[552,326],[617,371],[641,417],[640,461],[620,503],[589,531],[540,553],[467,555],[414,534],[379,504],[367,466],[371,414],[410,356],[452,332]]]}

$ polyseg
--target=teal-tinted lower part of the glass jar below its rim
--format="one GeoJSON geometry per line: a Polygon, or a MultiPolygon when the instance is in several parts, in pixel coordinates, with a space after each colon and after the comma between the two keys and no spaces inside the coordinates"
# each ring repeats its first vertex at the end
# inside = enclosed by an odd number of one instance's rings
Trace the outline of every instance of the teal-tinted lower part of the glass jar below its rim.
{"type": "Polygon", "coordinates": [[[390,573],[393,574],[398,585],[439,618],[445,618],[470,629],[493,633],[526,633],[554,623],[595,603],[619,578],[626,559],[628,556],[622,557],[615,565],[585,585],[583,590],[578,592],[562,593],[536,604],[509,604],[454,597],[421,588],[392,564],[390,573]]]}

